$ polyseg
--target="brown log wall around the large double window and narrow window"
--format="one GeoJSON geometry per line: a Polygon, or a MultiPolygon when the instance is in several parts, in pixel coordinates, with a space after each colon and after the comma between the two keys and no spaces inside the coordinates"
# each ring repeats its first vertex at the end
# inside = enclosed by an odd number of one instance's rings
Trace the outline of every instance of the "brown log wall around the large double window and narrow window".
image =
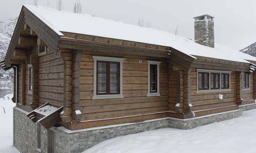
{"type": "Polygon", "coordinates": [[[91,54],[83,52],[80,61],[81,121],[168,111],[168,63],[162,61],[160,64],[161,96],[147,97],[147,73],[146,59],[142,59],[142,64],[139,64],[137,58],[125,58],[124,98],[92,100],[93,58],[91,54]]]}

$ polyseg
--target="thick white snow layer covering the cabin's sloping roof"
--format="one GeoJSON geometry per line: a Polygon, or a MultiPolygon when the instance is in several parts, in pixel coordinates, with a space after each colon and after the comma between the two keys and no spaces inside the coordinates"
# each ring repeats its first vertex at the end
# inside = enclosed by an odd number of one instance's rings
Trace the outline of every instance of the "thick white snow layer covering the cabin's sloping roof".
{"type": "Polygon", "coordinates": [[[170,46],[193,58],[195,58],[193,56],[195,55],[245,63],[249,63],[246,60],[256,61],[255,57],[240,51],[227,47],[219,48],[219,45],[216,45],[216,48],[210,48],[197,44],[186,37],[176,36],[172,33],[154,28],[139,27],[114,20],[93,17],[88,14],[58,11],[43,6],[24,6],[59,35],[63,35],[60,32],[63,31],[170,46]]]}

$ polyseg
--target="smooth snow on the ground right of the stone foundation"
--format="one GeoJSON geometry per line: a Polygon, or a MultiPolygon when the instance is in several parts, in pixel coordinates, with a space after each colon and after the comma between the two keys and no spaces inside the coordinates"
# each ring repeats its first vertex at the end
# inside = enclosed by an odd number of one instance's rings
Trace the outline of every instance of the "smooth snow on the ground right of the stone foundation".
{"type": "Polygon", "coordinates": [[[256,109],[191,130],[164,128],[104,141],[83,153],[255,153],[256,109]]]}

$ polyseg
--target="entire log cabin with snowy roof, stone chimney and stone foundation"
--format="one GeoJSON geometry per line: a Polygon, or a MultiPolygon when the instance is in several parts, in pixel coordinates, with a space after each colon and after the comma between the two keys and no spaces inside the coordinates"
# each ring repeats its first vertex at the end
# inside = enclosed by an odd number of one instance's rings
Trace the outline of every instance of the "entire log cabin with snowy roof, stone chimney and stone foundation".
{"type": "Polygon", "coordinates": [[[214,17],[194,19],[191,40],[24,5],[0,62],[14,69],[14,146],[82,152],[109,138],[191,129],[256,108],[256,58],[215,43],[214,17]]]}

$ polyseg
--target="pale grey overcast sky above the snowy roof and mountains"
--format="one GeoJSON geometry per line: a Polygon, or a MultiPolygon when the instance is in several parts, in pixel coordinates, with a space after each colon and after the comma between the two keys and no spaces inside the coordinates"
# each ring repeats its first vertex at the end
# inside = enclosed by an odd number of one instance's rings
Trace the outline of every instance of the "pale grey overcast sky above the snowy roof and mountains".
{"type": "MultiPolygon", "coordinates": [[[[56,0],[38,0],[56,8],[56,0]]],[[[63,10],[73,11],[76,0],[62,0],[63,10]]],[[[194,38],[193,17],[214,16],[215,42],[240,50],[256,42],[255,0],[80,0],[82,13],[137,25],[138,18],[152,28],[194,38]]],[[[0,21],[20,14],[32,0],[0,0],[0,21]]],[[[125,29],[124,29],[125,30],[125,29]]]]}

